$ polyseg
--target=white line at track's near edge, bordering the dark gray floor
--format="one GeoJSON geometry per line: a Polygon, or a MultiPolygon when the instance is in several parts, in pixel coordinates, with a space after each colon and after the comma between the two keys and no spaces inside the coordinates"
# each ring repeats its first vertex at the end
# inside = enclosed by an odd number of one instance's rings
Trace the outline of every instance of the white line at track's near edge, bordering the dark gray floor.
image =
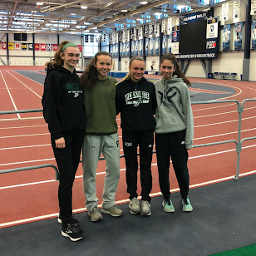
{"type": "MultiPolygon", "coordinates": [[[[244,176],[248,176],[248,175],[254,175],[256,173],[256,170],[251,170],[248,172],[245,172],[243,174],[240,174],[239,177],[244,177],[244,176]]],[[[194,184],[194,185],[190,185],[190,189],[194,189],[194,188],[198,188],[201,186],[205,186],[205,185],[211,185],[214,183],[219,183],[219,182],[223,182],[226,180],[233,180],[234,179],[234,175],[232,176],[228,176],[228,177],[224,177],[221,179],[217,179],[217,180],[210,180],[210,181],[206,181],[206,182],[201,182],[198,184],[194,184]]],[[[170,193],[174,193],[174,192],[178,192],[180,191],[179,188],[170,190],[170,193]]],[[[155,193],[151,193],[150,196],[151,197],[155,197],[161,195],[161,192],[155,192],[155,193]]],[[[141,197],[139,196],[139,199],[141,197]]],[[[118,200],[116,201],[116,204],[125,204],[128,203],[130,201],[130,199],[122,199],[122,200],[118,200]]],[[[98,207],[101,209],[101,204],[98,205],[98,207]]],[[[80,209],[73,209],[73,213],[81,213],[81,212],[85,212],[86,208],[80,208],[80,209]]],[[[12,225],[16,225],[16,224],[25,224],[25,223],[29,223],[29,222],[33,222],[33,221],[37,221],[37,220],[43,220],[43,219],[52,219],[53,217],[57,217],[59,213],[55,213],[55,214],[46,214],[46,215],[41,215],[41,216],[37,216],[37,217],[32,217],[32,218],[27,218],[27,219],[18,219],[18,220],[14,220],[14,221],[10,221],[10,222],[6,222],[6,223],[2,223],[0,224],[0,228],[4,228],[7,226],[12,226],[12,225]]]]}

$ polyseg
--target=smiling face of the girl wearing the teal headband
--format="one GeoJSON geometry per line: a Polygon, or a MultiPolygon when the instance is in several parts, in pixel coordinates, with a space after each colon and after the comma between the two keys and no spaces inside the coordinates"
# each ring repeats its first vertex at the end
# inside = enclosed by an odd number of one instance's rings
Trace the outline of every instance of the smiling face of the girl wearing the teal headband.
{"type": "Polygon", "coordinates": [[[63,67],[72,72],[79,62],[80,51],[78,47],[67,47],[60,56],[64,62],[63,67]]]}

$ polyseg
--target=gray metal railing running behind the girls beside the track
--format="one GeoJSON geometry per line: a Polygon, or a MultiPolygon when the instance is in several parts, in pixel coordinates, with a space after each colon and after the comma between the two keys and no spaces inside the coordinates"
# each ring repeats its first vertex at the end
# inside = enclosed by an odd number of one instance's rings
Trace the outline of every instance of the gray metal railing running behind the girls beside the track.
{"type": "MultiPolygon", "coordinates": [[[[235,180],[239,180],[239,164],[240,164],[240,152],[242,151],[242,143],[245,140],[254,140],[255,137],[248,137],[241,140],[241,123],[242,123],[242,113],[244,111],[244,103],[246,101],[256,101],[256,99],[246,99],[242,101],[241,105],[239,104],[239,101],[236,100],[228,100],[228,101],[194,101],[191,102],[192,105],[199,105],[199,104],[214,104],[214,103],[227,103],[227,102],[234,102],[238,105],[238,112],[239,112],[239,128],[238,128],[238,140],[224,140],[224,141],[218,141],[218,142],[212,142],[207,144],[199,144],[194,145],[193,148],[203,147],[203,146],[209,146],[209,145],[220,145],[220,144],[226,144],[226,143],[235,143],[236,144],[236,152],[237,152],[237,168],[236,168],[236,175],[234,176],[235,180]]],[[[34,109],[34,110],[22,110],[22,111],[0,111],[0,115],[7,115],[7,114],[17,114],[17,113],[31,113],[31,112],[42,112],[42,109],[34,109]]],[[[153,151],[155,153],[155,150],[153,151]]],[[[140,155],[140,153],[138,153],[140,155]]],[[[120,155],[120,158],[124,157],[124,155],[120,155]]],[[[104,160],[104,157],[101,157],[100,160],[104,160]]],[[[0,174],[4,173],[10,173],[10,172],[16,172],[21,170],[34,170],[34,169],[40,169],[40,168],[47,168],[51,167],[53,170],[55,170],[55,177],[56,180],[58,180],[58,170],[56,165],[47,164],[47,165],[34,165],[34,166],[27,166],[27,167],[21,167],[21,168],[14,168],[14,169],[7,169],[7,170],[0,170],[0,174]]]]}

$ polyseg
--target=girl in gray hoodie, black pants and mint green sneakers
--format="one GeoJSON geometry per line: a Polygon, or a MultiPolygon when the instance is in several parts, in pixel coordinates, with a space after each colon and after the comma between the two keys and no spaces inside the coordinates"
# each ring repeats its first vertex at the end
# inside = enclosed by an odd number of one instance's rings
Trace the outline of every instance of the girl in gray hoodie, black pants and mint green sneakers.
{"type": "Polygon", "coordinates": [[[188,152],[193,146],[194,122],[188,86],[175,56],[165,54],[160,59],[162,78],[155,81],[157,107],[155,111],[155,149],[160,190],[165,212],[175,212],[170,199],[170,157],[180,186],[182,208],[193,210],[189,199],[190,176],[188,152]]]}

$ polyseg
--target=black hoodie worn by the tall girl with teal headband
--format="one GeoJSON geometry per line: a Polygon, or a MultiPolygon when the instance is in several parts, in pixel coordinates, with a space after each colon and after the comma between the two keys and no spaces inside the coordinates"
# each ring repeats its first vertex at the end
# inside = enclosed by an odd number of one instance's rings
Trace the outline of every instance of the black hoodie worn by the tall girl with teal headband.
{"type": "Polygon", "coordinates": [[[83,90],[76,69],[71,73],[58,65],[47,68],[42,106],[53,140],[63,137],[63,132],[86,130],[83,90]]]}

